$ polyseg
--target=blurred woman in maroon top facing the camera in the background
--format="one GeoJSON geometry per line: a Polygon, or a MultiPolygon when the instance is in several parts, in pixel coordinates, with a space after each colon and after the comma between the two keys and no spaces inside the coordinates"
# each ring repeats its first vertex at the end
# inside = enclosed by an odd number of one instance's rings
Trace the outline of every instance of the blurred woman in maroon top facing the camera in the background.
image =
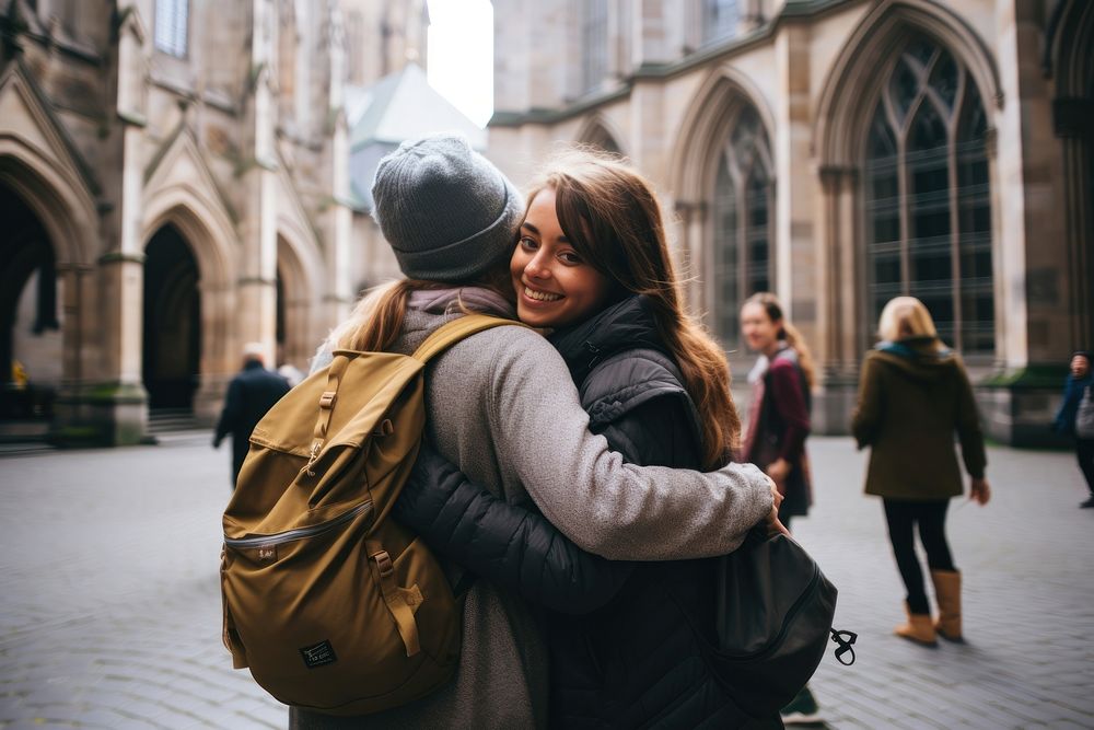
{"type": "MultiPolygon", "coordinates": [[[[779,521],[790,530],[791,518],[805,515],[813,503],[805,453],[813,404],[813,356],[770,292],[745,300],[741,333],[749,349],[760,354],[748,373],[752,403],[742,461],[756,464],[775,480],[783,497],[779,521]]],[[[781,715],[787,723],[821,720],[816,698],[807,686],[782,708],[781,715]]]]}

